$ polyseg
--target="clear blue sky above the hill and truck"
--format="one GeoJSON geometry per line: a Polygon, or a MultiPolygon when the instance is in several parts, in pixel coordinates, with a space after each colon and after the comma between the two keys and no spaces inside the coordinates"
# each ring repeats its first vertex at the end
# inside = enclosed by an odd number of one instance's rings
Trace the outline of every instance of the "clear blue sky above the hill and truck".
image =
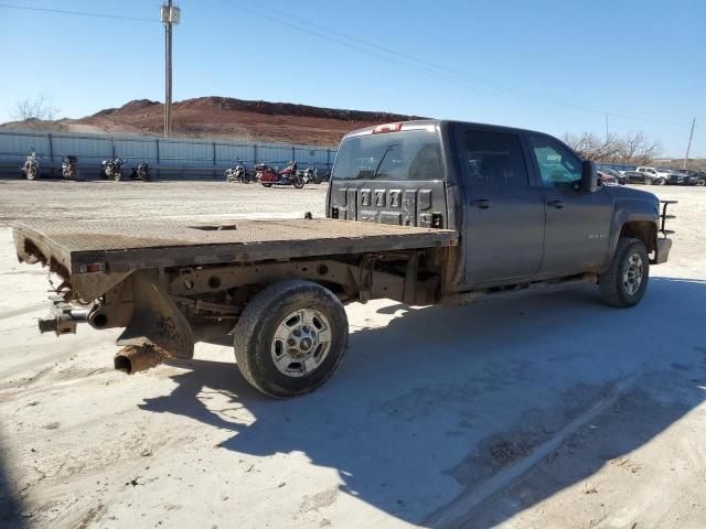
{"type": "MultiPolygon", "coordinates": [[[[153,22],[0,7],[0,121],[40,94],[67,117],[163,100],[160,1],[1,3],[153,22]]],[[[175,100],[217,95],[387,110],[556,136],[605,134],[608,114],[610,131],[644,131],[673,156],[683,156],[696,117],[692,155],[706,156],[704,0],[179,4],[175,100]]]]}

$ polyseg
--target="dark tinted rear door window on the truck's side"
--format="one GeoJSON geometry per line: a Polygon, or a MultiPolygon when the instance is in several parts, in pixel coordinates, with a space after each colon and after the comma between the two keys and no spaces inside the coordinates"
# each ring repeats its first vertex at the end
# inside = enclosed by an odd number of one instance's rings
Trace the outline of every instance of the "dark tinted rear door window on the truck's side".
{"type": "Polygon", "coordinates": [[[514,134],[468,130],[462,134],[460,151],[471,185],[518,187],[528,183],[522,147],[514,134]]]}

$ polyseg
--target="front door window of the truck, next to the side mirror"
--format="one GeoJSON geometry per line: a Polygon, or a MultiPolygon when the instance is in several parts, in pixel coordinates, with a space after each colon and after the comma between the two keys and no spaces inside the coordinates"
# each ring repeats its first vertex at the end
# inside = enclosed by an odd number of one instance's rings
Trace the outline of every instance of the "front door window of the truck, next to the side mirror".
{"type": "Polygon", "coordinates": [[[532,152],[546,187],[571,187],[581,180],[581,161],[567,148],[542,136],[530,136],[532,152]]]}

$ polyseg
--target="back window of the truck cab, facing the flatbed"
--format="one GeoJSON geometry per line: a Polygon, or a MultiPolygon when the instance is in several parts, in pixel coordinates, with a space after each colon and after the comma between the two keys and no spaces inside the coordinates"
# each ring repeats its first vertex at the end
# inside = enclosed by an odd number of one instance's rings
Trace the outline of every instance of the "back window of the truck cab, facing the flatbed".
{"type": "Polygon", "coordinates": [[[436,130],[407,130],[349,138],[333,166],[338,180],[441,180],[441,141],[436,130]]]}

